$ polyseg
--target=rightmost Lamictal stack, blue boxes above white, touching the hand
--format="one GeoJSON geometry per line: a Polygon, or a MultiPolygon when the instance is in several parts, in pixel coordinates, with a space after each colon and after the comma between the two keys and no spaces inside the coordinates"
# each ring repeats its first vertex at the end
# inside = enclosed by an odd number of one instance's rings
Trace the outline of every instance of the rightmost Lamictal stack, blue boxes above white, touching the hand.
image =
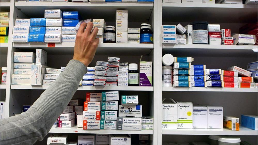
{"type": "Polygon", "coordinates": [[[79,12],[63,12],[62,43],[75,43],[75,26],[79,22],[79,12]]]}

